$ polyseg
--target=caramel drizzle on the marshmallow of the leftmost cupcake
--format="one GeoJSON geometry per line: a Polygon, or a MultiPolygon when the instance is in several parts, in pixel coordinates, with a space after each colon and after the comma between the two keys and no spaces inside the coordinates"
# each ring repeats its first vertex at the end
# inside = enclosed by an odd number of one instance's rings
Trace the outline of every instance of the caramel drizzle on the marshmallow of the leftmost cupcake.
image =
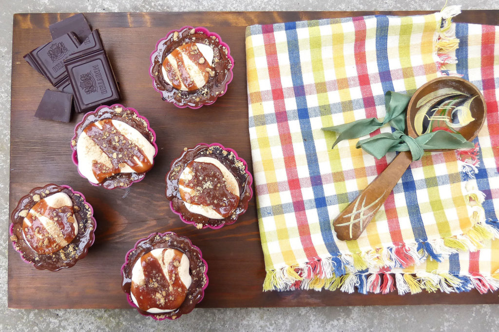
{"type": "Polygon", "coordinates": [[[72,206],[55,209],[43,199],[33,205],[26,215],[26,219],[31,223],[31,226],[28,226],[23,221],[22,231],[24,237],[28,245],[38,254],[48,255],[59,251],[75,238],[72,206]],[[52,235],[43,226],[38,215],[48,218],[50,222],[55,224],[57,230],[54,233],[56,234],[52,235]]]}

